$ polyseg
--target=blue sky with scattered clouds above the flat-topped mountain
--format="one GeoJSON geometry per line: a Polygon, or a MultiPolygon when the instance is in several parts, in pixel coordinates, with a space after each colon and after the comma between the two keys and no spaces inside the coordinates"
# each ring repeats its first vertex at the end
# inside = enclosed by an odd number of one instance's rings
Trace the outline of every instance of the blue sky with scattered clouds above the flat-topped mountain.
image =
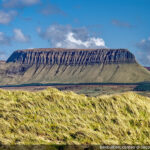
{"type": "Polygon", "coordinates": [[[30,48],[125,48],[150,66],[150,0],[0,0],[0,60],[30,48]]]}

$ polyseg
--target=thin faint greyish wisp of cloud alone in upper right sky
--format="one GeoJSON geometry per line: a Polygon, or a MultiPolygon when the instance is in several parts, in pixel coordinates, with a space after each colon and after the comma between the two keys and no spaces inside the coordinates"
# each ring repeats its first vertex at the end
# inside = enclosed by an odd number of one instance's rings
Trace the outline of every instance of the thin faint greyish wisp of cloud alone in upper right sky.
{"type": "Polygon", "coordinates": [[[134,27],[133,25],[131,25],[128,22],[123,22],[123,21],[116,20],[116,19],[112,20],[112,24],[115,25],[115,26],[124,27],[124,28],[132,28],[132,27],[134,27]]]}

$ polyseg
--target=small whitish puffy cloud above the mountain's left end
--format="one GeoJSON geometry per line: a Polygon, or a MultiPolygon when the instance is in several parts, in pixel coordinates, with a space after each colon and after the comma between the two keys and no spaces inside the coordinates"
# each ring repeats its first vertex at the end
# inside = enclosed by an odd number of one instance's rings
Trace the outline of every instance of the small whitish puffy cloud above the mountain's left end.
{"type": "Polygon", "coordinates": [[[29,42],[30,37],[24,35],[24,33],[21,31],[21,29],[14,29],[14,40],[18,42],[29,42]]]}

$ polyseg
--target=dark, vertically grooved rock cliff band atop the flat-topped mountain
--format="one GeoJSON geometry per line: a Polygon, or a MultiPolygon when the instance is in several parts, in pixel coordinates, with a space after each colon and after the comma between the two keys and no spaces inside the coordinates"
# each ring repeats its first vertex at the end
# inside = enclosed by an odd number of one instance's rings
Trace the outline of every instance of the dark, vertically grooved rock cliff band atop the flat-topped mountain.
{"type": "Polygon", "coordinates": [[[135,63],[126,49],[32,49],[15,51],[7,60],[20,64],[94,65],[135,63]]]}

